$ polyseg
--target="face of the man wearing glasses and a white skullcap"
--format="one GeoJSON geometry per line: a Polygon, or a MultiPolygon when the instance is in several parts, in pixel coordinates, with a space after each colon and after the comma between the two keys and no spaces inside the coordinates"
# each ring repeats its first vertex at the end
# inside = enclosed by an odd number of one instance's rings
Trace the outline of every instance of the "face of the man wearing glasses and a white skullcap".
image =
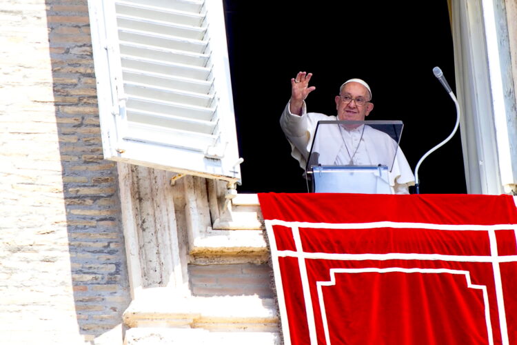
{"type": "MultiPolygon", "coordinates": [[[[369,92],[360,83],[352,81],[346,83],[341,90],[341,97],[349,96],[353,99],[365,99],[369,101],[369,92]]],[[[338,120],[347,121],[364,121],[365,117],[369,115],[369,112],[374,108],[373,103],[365,103],[363,106],[358,106],[356,101],[350,101],[345,103],[340,96],[336,96],[336,109],[338,110],[338,120]]]]}

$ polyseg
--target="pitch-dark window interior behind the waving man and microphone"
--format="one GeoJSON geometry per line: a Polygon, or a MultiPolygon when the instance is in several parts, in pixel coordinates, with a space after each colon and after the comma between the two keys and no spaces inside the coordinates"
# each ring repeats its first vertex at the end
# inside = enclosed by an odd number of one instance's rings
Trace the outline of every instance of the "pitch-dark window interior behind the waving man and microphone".
{"type": "MultiPolygon", "coordinates": [[[[224,0],[243,184],[239,193],[305,193],[278,119],[290,79],[312,72],[312,112],[335,115],[343,81],[365,79],[375,108],[368,119],[402,120],[409,165],[445,139],[456,110],[434,77],[455,89],[447,1],[224,0]]],[[[459,131],[420,166],[420,193],[466,193],[459,131]]]]}

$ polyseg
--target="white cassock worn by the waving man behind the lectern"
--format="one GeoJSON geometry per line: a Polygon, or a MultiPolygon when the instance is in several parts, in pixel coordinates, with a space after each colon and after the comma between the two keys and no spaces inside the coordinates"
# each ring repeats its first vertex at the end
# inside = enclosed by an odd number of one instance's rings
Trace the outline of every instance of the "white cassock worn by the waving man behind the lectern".
{"type": "MultiPolygon", "coordinates": [[[[314,132],[318,121],[335,121],[335,116],[318,112],[307,113],[303,103],[302,116],[293,115],[289,103],[280,119],[280,125],[291,144],[291,155],[305,170],[314,132]]],[[[394,194],[408,194],[415,177],[401,148],[384,132],[369,126],[354,129],[339,126],[320,126],[318,137],[324,135],[325,150],[319,151],[318,163],[325,165],[388,166],[389,185],[394,194]],[[320,130],[325,132],[320,132],[320,130]],[[393,157],[395,159],[393,160],[393,157]],[[351,163],[352,161],[352,163],[351,163]]]]}

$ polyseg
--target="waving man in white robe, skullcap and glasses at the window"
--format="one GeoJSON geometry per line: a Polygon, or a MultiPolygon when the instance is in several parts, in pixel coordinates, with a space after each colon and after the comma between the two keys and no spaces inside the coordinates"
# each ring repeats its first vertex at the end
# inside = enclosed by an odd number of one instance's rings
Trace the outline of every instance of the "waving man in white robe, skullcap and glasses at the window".
{"type": "MultiPolygon", "coordinates": [[[[335,97],[337,116],[317,112],[307,113],[305,99],[315,87],[309,87],[312,74],[298,72],[291,79],[291,99],[280,119],[280,124],[290,141],[292,156],[305,170],[314,140],[318,121],[348,120],[364,121],[374,108],[370,102],[372,91],[365,81],[350,79],[340,88],[335,97]]],[[[389,135],[369,126],[343,128],[329,126],[325,132],[328,138],[326,150],[320,150],[319,163],[334,165],[374,165],[389,167],[389,185],[392,193],[408,194],[414,185],[414,175],[402,150],[396,149],[396,142],[389,135]],[[395,156],[395,161],[392,158],[395,156]]]]}

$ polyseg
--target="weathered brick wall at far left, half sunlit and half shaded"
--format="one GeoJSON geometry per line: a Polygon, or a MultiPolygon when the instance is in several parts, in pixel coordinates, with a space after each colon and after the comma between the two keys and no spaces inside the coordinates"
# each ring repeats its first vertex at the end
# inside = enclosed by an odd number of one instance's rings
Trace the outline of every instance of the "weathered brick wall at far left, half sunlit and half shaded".
{"type": "Polygon", "coordinates": [[[130,296],[87,1],[3,0],[2,8],[2,344],[101,339],[130,296]]]}

